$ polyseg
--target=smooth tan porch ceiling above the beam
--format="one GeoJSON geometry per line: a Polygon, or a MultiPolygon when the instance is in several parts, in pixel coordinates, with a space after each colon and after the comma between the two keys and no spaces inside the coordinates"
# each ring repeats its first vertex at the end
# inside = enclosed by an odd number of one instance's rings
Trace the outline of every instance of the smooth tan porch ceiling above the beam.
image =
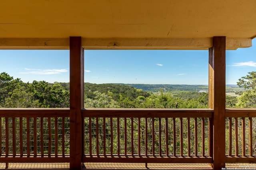
{"type": "Polygon", "coordinates": [[[256,36],[256,0],[0,0],[0,38],[256,36]]]}

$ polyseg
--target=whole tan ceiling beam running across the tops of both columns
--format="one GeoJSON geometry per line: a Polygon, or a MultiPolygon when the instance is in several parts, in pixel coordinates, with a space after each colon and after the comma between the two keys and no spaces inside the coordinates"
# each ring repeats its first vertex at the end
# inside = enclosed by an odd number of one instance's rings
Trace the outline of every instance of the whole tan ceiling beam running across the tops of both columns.
{"type": "MultiPolygon", "coordinates": [[[[226,38],[226,49],[236,50],[252,46],[251,38],[226,38]]],[[[82,39],[86,50],[100,49],[155,49],[208,50],[212,38],[111,38],[82,39]]],[[[69,49],[68,38],[0,38],[0,49],[69,49]]]]}

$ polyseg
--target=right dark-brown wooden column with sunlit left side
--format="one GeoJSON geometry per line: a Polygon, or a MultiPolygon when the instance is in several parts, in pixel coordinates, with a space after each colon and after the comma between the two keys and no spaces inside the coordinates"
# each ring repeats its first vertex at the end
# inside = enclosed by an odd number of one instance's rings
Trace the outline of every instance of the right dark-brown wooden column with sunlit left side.
{"type": "Polygon", "coordinates": [[[209,49],[209,108],[213,118],[213,167],[225,167],[226,37],[213,37],[209,49]]]}

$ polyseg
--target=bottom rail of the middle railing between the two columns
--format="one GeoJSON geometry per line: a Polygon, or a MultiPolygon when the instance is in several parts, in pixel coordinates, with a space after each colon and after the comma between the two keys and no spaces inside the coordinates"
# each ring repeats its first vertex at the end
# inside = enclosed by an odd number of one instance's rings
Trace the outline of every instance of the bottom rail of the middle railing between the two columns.
{"type": "Polygon", "coordinates": [[[211,157],[202,156],[86,156],[83,162],[122,162],[122,163],[212,163],[211,157]]]}

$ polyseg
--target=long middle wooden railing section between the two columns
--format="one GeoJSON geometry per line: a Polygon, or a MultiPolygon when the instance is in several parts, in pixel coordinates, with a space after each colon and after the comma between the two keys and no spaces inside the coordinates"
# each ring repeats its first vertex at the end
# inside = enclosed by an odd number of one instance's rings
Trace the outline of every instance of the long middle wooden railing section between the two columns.
{"type": "Polygon", "coordinates": [[[84,162],[212,163],[212,109],[86,109],[84,162]]]}

